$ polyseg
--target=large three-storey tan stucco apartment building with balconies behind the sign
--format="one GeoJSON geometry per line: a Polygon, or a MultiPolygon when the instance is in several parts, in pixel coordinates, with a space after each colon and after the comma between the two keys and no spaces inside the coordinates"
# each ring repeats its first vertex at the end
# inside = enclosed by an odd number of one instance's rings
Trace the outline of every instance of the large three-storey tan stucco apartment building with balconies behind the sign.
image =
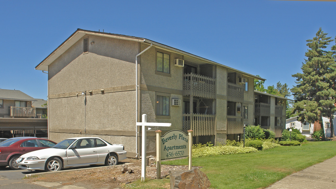
{"type": "Polygon", "coordinates": [[[156,129],[192,129],[194,143],[223,144],[242,138],[254,120],[277,136],[285,128],[287,99],[253,90],[254,79],[265,79],[145,38],[78,29],[35,69],[48,71],[48,131],[56,142],[99,136],[139,157],[142,114],[172,123],[147,132],[148,152],[156,129]]]}

